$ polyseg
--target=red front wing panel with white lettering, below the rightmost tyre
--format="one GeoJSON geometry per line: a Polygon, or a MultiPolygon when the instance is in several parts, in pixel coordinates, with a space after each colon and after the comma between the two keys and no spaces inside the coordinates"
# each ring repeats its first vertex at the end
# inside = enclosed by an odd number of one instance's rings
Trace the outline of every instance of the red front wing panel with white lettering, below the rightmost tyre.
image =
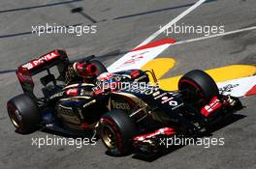
{"type": "Polygon", "coordinates": [[[222,106],[222,103],[220,102],[220,100],[217,97],[214,97],[213,99],[211,99],[208,103],[208,105],[205,105],[202,109],[201,109],[201,113],[208,117],[208,115],[210,115],[212,112],[216,111],[217,109],[219,109],[222,106]]]}

